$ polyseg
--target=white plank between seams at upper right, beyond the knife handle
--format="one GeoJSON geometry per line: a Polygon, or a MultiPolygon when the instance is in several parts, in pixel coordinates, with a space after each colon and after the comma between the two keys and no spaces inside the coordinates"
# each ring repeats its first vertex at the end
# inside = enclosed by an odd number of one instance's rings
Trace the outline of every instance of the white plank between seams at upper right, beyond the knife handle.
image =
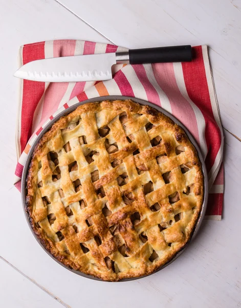
{"type": "Polygon", "coordinates": [[[241,137],[240,1],[56,1],[116,45],[209,45],[223,125],[241,137]]]}

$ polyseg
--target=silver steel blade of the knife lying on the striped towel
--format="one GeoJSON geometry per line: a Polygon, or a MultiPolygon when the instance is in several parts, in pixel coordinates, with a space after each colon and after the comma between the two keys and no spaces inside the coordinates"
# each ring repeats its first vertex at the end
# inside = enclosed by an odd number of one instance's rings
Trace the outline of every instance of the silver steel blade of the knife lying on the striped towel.
{"type": "Polygon", "coordinates": [[[109,80],[113,64],[116,53],[63,56],[29,62],[14,76],[43,82],[109,80]]]}

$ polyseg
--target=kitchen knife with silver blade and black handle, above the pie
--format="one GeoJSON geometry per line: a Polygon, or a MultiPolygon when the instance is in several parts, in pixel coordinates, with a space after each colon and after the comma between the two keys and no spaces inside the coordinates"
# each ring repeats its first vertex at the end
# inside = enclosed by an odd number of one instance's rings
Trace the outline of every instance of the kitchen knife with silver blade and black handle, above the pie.
{"type": "Polygon", "coordinates": [[[125,52],[74,55],[36,60],[20,67],[14,76],[43,82],[77,82],[112,79],[112,65],[189,62],[190,45],[129,49],[125,52]]]}

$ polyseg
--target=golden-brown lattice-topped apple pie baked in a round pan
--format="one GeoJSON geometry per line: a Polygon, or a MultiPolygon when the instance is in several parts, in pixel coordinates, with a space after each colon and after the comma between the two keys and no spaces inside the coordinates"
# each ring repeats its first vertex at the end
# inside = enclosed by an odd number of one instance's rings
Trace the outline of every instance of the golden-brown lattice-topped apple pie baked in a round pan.
{"type": "Polygon", "coordinates": [[[151,274],[189,241],[202,165],[180,126],[131,100],[87,103],[34,149],[26,210],[60,262],[107,281],[151,274]]]}

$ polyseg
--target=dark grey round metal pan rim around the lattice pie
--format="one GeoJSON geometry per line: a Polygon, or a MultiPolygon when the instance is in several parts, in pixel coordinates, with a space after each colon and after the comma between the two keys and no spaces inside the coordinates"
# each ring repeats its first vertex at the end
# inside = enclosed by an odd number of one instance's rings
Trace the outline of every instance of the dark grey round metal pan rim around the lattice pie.
{"type": "MultiPolygon", "coordinates": [[[[200,225],[203,221],[204,215],[205,215],[205,211],[206,211],[206,207],[207,207],[207,200],[208,200],[208,177],[207,177],[207,170],[206,170],[206,166],[205,166],[205,162],[204,159],[202,157],[202,153],[200,151],[200,148],[198,146],[198,144],[196,143],[196,141],[194,140],[194,138],[192,137],[191,133],[187,130],[187,128],[179,121],[177,120],[175,117],[173,117],[172,114],[170,114],[169,112],[167,112],[166,110],[164,110],[163,108],[154,105],[152,103],[149,103],[147,101],[141,100],[141,99],[136,99],[136,98],[132,98],[132,97],[125,97],[125,96],[121,96],[121,95],[109,95],[109,96],[103,96],[103,97],[98,97],[98,98],[93,98],[93,99],[89,99],[80,103],[77,103],[65,110],[63,110],[62,112],[60,112],[58,115],[56,115],[56,117],[51,120],[39,133],[38,137],[36,138],[36,140],[34,141],[33,145],[31,146],[31,149],[28,153],[25,165],[24,165],[24,170],[23,170],[23,176],[21,179],[21,199],[22,199],[22,203],[23,203],[23,208],[24,208],[24,213],[25,213],[25,217],[26,220],[28,222],[28,225],[30,227],[30,230],[32,232],[32,234],[34,235],[35,239],[37,240],[37,242],[39,243],[39,245],[46,251],[46,253],[52,258],[54,259],[56,262],[58,262],[61,266],[67,268],[69,271],[78,274],[82,277],[85,278],[89,278],[89,279],[93,279],[93,280],[99,280],[99,281],[103,281],[102,279],[93,277],[91,275],[86,275],[82,272],[76,271],[75,269],[71,269],[68,266],[64,265],[63,263],[59,262],[57,259],[55,259],[48,251],[47,249],[41,244],[40,240],[37,238],[37,236],[35,235],[35,233],[33,232],[32,226],[30,224],[28,215],[26,213],[26,195],[27,195],[27,189],[26,189],[26,181],[27,181],[27,175],[28,175],[28,169],[29,169],[29,165],[31,162],[31,158],[32,158],[32,153],[33,150],[35,148],[35,146],[37,145],[37,143],[40,141],[40,139],[42,138],[43,134],[45,134],[50,128],[51,126],[58,121],[63,115],[67,115],[68,113],[74,111],[78,106],[86,104],[86,103],[93,103],[93,102],[101,102],[104,100],[110,100],[110,101],[115,101],[115,100],[133,100],[136,103],[139,103],[140,105],[148,105],[151,106],[155,109],[157,109],[158,111],[164,113],[165,115],[167,115],[167,117],[169,117],[173,122],[177,123],[180,127],[182,127],[182,129],[186,132],[189,140],[191,141],[191,143],[193,144],[193,146],[195,147],[196,151],[198,152],[201,164],[202,164],[202,168],[203,168],[203,174],[204,174],[204,199],[203,199],[203,205],[202,205],[202,209],[200,212],[200,216],[195,224],[195,227],[193,229],[192,235],[190,237],[190,240],[188,241],[188,243],[184,246],[184,248],[182,248],[169,262],[167,262],[166,264],[164,264],[163,266],[161,266],[156,272],[159,272],[161,269],[163,269],[164,267],[166,267],[167,265],[169,265],[170,263],[172,263],[174,260],[176,260],[183,252],[184,250],[187,248],[187,246],[189,245],[189,243],[194,239],[195,235],[198,233],[198,230],[200,228],[200,225]]],[[[150,275],[154,274],[151,273],[150,275]]],[[[120,282],[123,281],[130,281],[130,280],[136,280],[136,279],[140,279],[146,276],[141,276],[141,277],[135,277],[135,278],[128,278],[128,279],[122,279],[120,282]]]]}

